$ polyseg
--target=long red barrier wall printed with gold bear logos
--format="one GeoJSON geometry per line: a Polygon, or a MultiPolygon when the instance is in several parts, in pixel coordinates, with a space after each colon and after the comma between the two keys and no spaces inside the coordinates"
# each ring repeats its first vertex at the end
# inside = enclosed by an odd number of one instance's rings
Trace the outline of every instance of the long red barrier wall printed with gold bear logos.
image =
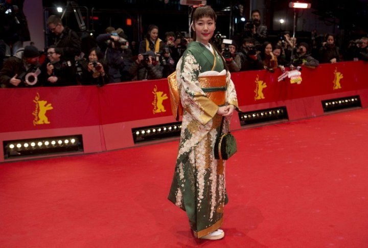
{"type": "MultiPolygon", "coordinates": [[[[281,71],[232,73],[243,111],[286,106],[290,120],[323,115],[322,100],[359,95],[368,106],[367,63],[302,70],[302,83],[278,82],[281,71]],[[337,75],[337,76],[336,76],[337,75]],[[259,89],[259,86],[266,86],[259,89]]],[[[174,122],[166,79],[97,86],[0,89],[3,141],[82,134],[84,152],[134,146],[131,128],[174,122]]],[[[239,129],[234,115],[232,129],[239,129]]]]}

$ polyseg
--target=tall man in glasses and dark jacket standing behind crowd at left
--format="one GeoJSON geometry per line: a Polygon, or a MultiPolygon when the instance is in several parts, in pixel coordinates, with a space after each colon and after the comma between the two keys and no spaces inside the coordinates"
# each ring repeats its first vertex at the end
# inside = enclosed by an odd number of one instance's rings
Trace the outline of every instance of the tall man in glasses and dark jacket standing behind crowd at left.
{"type": "Polygon", "coordinates": [[[51,15],[47,19],[47,26],[52,32],[52,39],[48,46],[55,45],[61,49],[66,60],[75,61],[75,56],[81,53],[81,39],[78,34],[68,27],[64,27],[61,19],[51,15]]]}

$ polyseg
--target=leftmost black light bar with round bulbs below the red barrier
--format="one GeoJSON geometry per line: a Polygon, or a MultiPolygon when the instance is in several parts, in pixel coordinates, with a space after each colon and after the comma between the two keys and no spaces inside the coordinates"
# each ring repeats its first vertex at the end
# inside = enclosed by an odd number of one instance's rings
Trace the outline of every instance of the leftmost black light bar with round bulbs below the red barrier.
{"type": "Polygon", "coordinates": [[[35,138],[3,141],[4,159],[19,156],[42,156],[48,154],[83,151],[82,136],[35,138]],[[52,146],[50,146],[52,144],[52,146]]]}

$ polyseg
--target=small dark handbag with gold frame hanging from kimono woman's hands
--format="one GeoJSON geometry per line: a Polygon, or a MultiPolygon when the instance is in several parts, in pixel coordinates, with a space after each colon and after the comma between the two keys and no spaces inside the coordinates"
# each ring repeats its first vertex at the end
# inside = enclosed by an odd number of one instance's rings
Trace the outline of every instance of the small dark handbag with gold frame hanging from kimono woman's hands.
{"type": "MultiPolygon", "coordinates": [[[[217,160],[228,160],[235,152],[237,152],[236,140],[230,131],[222,133],[224,117],[221,121],[221,129],[215,143],[215,159],[217,160]]],[[[230,130],[230,129],[228,129],[230,130]]]]}

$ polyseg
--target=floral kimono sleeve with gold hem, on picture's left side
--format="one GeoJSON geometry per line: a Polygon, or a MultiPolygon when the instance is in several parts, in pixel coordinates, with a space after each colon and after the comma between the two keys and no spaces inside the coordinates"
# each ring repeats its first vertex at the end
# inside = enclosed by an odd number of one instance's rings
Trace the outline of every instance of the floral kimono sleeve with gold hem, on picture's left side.
{"type": "Polygon", "coordinates": [[[198,81],[199,71],[200,65],[187,51],[177,65],[176,78],[183,108],[205,125],[216,115],[219,107],[202,91],[198,81]]]}

